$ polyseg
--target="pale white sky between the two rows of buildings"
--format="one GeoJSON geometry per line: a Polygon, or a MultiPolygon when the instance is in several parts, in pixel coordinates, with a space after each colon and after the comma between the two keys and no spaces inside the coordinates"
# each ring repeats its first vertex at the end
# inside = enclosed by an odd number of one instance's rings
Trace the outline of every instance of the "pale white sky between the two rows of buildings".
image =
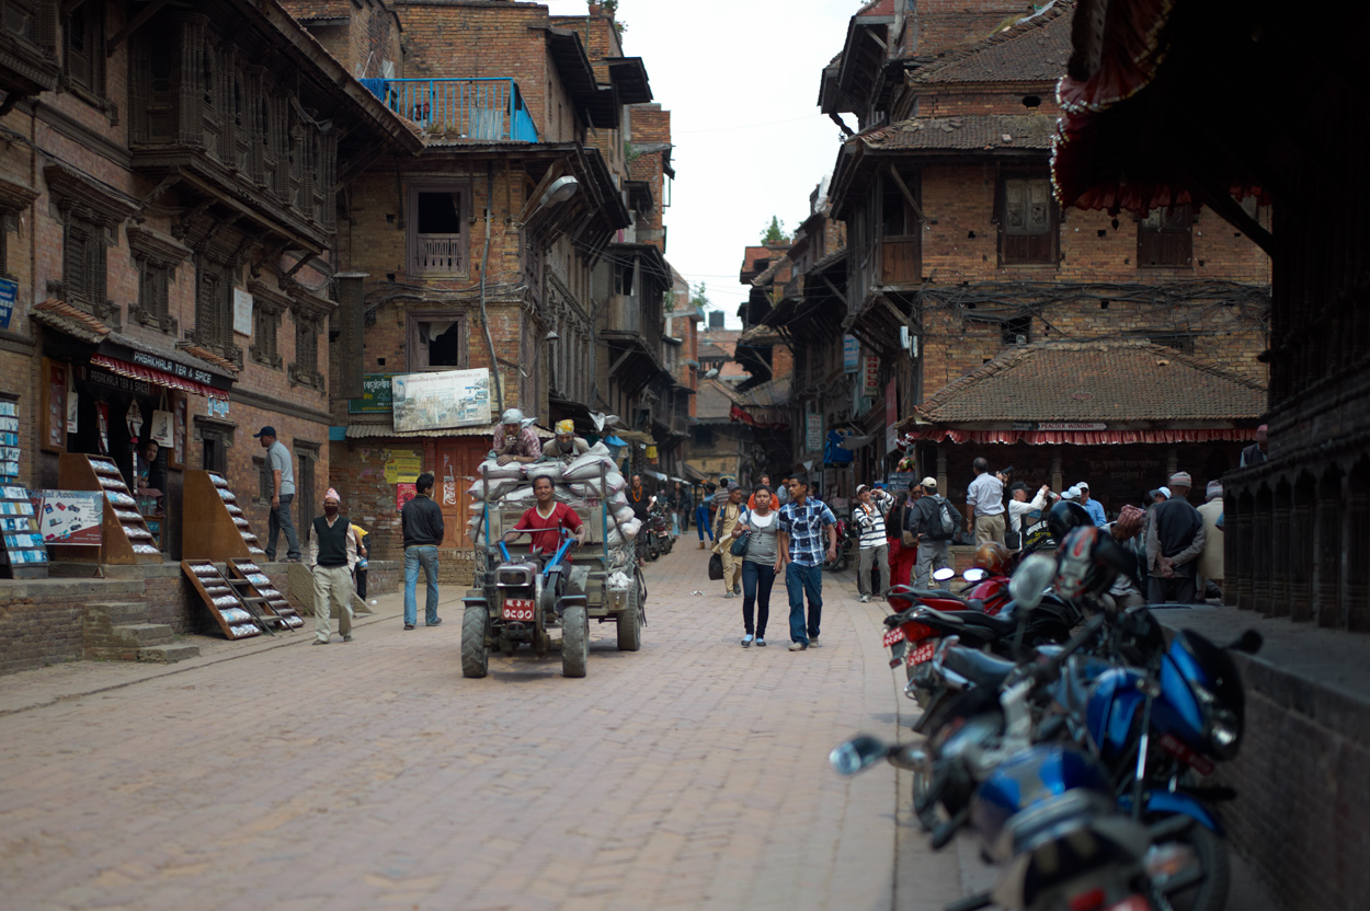
{"type": "MultiPolygon", "coordinates": [[[[544,0],[585,15],[585,0],[544,0]]],[[[856,0],[621,0],[623,53],[640,56],[671,112],[675,186],[666,259],[740,328],[743,248],[778,215],[786,231],[837,160],[818,79],[843,49],[856,0]]]]}

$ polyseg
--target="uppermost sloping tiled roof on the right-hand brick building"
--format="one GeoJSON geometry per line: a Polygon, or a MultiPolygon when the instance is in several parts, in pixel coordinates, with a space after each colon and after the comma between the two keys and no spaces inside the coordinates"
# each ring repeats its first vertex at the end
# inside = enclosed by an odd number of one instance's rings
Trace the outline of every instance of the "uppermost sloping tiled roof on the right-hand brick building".
{"type": "Polygon", "coordinates": [[[912,74],[914,82],[1055,82],[1066,75],[1075,4],[1056,0],[1026,21],[958,48],[912,74]]]}

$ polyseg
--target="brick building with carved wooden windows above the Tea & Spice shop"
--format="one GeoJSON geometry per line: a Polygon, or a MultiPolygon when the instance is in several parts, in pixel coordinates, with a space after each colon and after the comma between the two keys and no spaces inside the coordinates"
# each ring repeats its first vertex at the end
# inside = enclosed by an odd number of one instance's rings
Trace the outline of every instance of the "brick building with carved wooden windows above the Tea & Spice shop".
{"type": "Polygon", "coordinates": [[[421,142],[275,4],[144,5],[34,0],[0,23],[0,387],[33,488],[64,453],[133,487],[170,410],[149,546],[175,559],[185,469],[223,472],[264,538],[264,424],[295,454],[296,523],[315,514],[337,194],[421,142]]]}

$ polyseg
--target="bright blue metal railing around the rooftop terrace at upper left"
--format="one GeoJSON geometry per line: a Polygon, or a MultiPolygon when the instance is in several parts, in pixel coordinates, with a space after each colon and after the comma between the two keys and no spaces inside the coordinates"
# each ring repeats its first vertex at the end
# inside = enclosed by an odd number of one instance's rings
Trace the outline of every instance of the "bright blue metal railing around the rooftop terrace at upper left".
{"type": "Polygon", "coordinates": [[[360,79],[388,108],[432,135],[470,142],[537,142],[514,79],[360,79]]]}

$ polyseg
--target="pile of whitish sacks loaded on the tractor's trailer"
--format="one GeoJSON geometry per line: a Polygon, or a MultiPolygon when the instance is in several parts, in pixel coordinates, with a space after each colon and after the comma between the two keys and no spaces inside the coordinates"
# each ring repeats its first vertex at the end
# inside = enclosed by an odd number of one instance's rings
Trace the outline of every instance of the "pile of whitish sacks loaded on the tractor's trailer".
{"type": "MultiPolygon", "coordinates": [[[[538,477],[551,477],[558,502],[582,506],[585,501],[606,501],[610,518],[608,540],[604,543],[610,551],[610,569],[632,565],[629,544],[637,536],[641,523],[633,516],[623,494],[626,486],[623,475],[614,468],[614,460],[603,443],[596,443],[588,453],[564,465],[553,461],[499,465],[490,458],[481,462],[480,472],[481,477],[466,491],[471,498],[469,536],[477,547],[484,547],[486,543],[486,499],[490,509],[522,512],[537,502],[533,495],[533,481],[538,477]]],[[[592,528],[590,540],[597,540],[599,536],[599,529],[592,528]]]]}

